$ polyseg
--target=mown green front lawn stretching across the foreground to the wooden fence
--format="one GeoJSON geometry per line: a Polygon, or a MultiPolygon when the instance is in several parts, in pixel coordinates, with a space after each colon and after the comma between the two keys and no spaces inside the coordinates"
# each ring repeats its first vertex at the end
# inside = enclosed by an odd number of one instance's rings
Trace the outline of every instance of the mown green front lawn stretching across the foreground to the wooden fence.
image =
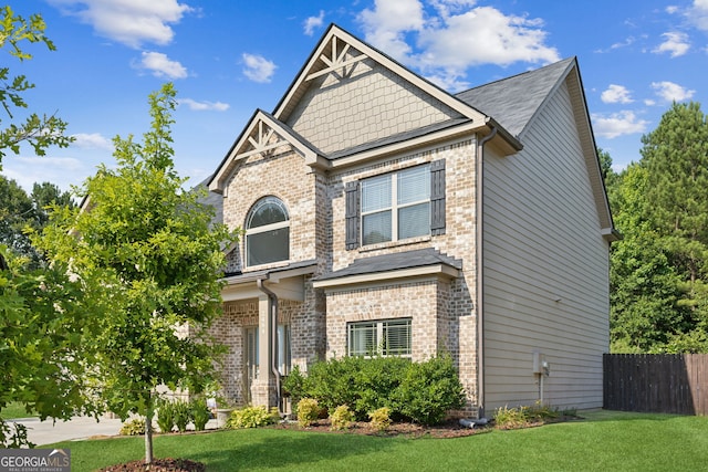
{"type": "MultiPolygon", "coordinates": [[[[708,418],[597,411],[585,420],[456,439],[252,429],[155,438],[157,457],[208,471],[700,471],[708,418]]],[[[142,438],[64,442],[72,470],[143,458],[142,438]]],[[[46,448],[46,447],[44,447],[46,448]]]]}

